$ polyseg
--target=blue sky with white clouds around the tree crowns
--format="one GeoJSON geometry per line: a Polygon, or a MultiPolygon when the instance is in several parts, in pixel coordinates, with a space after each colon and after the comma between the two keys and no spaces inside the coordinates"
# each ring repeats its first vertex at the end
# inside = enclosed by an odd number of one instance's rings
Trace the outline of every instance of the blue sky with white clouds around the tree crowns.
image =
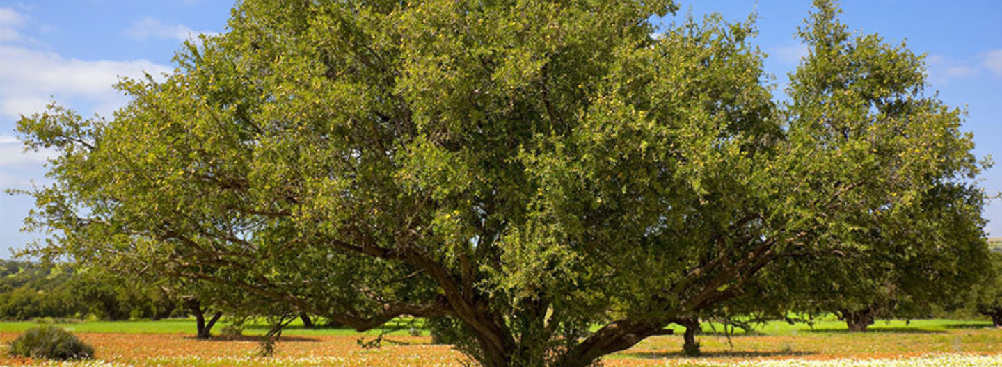
{"type": "MultiPolygon", "coordinates": [[[[111,85],[121,76],[173,69],[180,42],[199,33],[224,32],[232,2],[219,0],[0,0],[0,188],[44,184],[45,153],[24,154],[14,134],[21,114],[40,111],[52,98],[85,116],[109,115],[127,100],[111,85]]],[[[756,43],[770,54],[767,71],[782,88],[806,48],[794,33],[810,2],[759,0],[682,1],[691,10],[717,11],[743,20],[756,11],[756,43]]],[[[1002,157],[1002,1],[869,0],[842,2],[851,29],[907,39],[928,55],[930,90],[968,111],[963,129],[975,136],[978,156],[1002,157]]],[[[999,158],[1002,159],[1002,158],[999,158]]],[[[982,185],[1002,191],[1002,167],[988,170],[982,185]]],[[[0,195],[0,258],[43,234],[20,233],[32,207],[29,198],[0,195]]],[[[1002,236],[1002,204],[989,205],[990,236],[1002,236]]]]}

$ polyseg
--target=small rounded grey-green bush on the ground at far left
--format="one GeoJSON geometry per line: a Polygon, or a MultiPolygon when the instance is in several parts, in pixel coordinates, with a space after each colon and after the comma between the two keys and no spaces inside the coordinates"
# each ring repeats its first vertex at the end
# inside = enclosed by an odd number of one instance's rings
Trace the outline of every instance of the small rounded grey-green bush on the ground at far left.
{"type": "Polygon", "coordinates": [[[94,347],[73,333],[53,325],[25,331],[9,344],[8,353],[15,356],[44,359],[87,359],[94,356],[94,347]]]}

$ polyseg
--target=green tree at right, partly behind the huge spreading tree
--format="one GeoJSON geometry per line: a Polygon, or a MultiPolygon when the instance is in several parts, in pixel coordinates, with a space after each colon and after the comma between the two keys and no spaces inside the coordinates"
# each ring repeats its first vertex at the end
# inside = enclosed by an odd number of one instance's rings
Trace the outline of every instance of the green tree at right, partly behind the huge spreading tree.
{"type": "Polygon", "coordinates": [[[846,192],[816,223],[815,246],[777,262],[773,287],[788,288],[771,295],[787,305],[777,309],[890,318],[958,308],[988,267],[987,196],[974,183],[983,166],[959,130],[962,111],[924,93],[922,56],[852,35],[833,3],[816,5],[784,106],[790,141],[811,151],[791,158],[811,172],[802,185],[846,192]]]}

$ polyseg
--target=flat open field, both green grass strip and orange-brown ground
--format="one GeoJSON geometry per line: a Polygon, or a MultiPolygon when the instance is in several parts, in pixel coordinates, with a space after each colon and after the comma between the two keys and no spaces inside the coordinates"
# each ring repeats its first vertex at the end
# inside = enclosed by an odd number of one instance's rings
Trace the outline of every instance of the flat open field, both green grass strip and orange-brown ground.
{"type": "MultiPolygon", "coordinates": [[[[6,343],[33,323],[0,323],[6,343]]],[[[350,330],[291,328],[271,358],[255,357],[258,338],[191,337],[189,320],[81,322],[65,324],[97,350],[97,360],[67,366],[462,366],[463,357],[427,336],[398,332],[379,349],[359,340],[374,334],[350,330]]],[[[252,327],[248,334],[262,329],[252,327]]],[[[606,358],[606,366],[1002,366],[1002,330],[985,322],[954,320],[879,321],[863,334],[845,332],[844,324],[822,321],[807,325],[774,322],[754,334],[703,334],[703,357],[680,353],[680,336],[648,338],[606,358]],[[840,327],[841,326],[841,327],[840,327]],[[983,357],[976,357],[983,356],[983,357]],[[984,357],[987,356],[987,357],[984,357]],[[932,358],[932,359],[930,359],[932,358]],[[852,362],[846,359],[867,360],[852,362]],[[873,360],[879,359],[879,360],[873,360]],[[892,362],[889,359],[894,359],[892,362]],[[808,362],[815,361],[815,362],[808,362]],[[817,362],[822,361],[822,362],[817,362]],[[862,364],[861,364],[862,363],[862,364]],[[894,364],[891,364],[894,363],[894,364]]],[[[0,365],[41,365],[41,361],[0,358],[0,365]]]]}

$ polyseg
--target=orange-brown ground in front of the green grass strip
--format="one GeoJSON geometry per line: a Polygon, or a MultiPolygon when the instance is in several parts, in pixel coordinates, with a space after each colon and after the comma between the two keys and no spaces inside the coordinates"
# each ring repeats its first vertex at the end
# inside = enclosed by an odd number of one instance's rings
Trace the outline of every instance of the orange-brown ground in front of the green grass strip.
{"type": "MultiPolygon", "coordinates": [[[[0,342],[16,333],[0,333],[0,342]]],[[[365,348],[359,336],[289,336],[277,345],[269,359],[253,357],[257,337],[196,340],[181,334],[80,333],[96,349],[96,358],[133,365],[338,365],[369,366],[461,366],[463,356],[446,345],[430,345],[428,337],[388,337],[378,349],[365,348]],[[311,362],[318,359],[316,364],[311,362]],[[242,362],[241,362],[242,361],[242,362]],[[289,361],[290,363],[282,363],[289,361]],[[293,363],[292,361],[297,361],[293,363]]],[[[367,337],[365,340],[372,340],[367,337]]],[[[810,332],[799,335],[702,335],[703,356],[681,354],[681,337],[649,338],[633,348],[609,356],[606,366],[652,366],[665,360],[737,361],[748,359],[892,358],[930,353],[1002,354],[1002,329],[954,330],[948,332],[810,332]]],[[[0,364],[32,364],[27,359],[0,357],[0,364]]]]}

